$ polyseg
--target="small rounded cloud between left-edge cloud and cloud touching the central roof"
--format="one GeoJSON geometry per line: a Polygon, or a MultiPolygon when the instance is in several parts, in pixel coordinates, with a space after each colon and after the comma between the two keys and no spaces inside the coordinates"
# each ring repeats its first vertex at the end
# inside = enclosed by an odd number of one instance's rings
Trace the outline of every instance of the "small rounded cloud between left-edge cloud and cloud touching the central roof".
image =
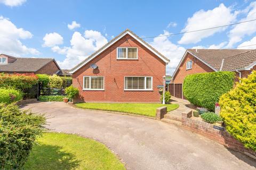
{"type": "Polygon", "coordinates": [[[56,45],[63,44],[63,37],[56,32],[46,33],[43,40],[44,40],[43,47],[53,47],[56,45]]]}

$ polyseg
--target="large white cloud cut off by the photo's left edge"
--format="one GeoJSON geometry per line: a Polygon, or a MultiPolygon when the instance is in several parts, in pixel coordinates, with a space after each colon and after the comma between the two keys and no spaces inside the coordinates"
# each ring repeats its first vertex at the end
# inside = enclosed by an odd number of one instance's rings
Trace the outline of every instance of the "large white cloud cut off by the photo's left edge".
{"type": "Polygon", "coordinates": [[[37,55],[38,50],[23,45],[20,39],[32,38],[33,35],[23,28],[17,28],[9,19],[0,16],[0,53],[21,56],[37,55]]]}

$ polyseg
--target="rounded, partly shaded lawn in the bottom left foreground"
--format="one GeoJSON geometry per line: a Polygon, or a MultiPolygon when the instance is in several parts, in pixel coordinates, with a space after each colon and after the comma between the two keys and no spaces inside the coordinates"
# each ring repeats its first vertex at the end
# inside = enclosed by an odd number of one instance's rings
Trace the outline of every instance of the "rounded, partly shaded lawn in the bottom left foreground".
{"type": "Polygon", "coordinates": [[[33,146],[25,169],[125,169],[102,143],[73,134],[45,133],[33,146]]]}

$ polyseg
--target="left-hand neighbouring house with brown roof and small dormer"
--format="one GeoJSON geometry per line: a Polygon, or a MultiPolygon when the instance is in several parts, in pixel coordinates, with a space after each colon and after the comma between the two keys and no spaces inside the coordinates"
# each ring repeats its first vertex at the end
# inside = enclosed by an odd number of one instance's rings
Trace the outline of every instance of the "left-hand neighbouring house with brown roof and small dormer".
{"type": "Polygon", "coordinates": [[[35,73],[53,75],[60,70],[54,58],[22,58],[0,54],[0,73],[35,73]]]}

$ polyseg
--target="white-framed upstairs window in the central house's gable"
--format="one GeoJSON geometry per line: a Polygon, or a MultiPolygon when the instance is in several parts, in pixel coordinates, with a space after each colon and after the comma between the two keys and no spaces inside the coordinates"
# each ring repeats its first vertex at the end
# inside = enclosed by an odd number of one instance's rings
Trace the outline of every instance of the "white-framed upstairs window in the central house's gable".
{"type": "Polygon", "coordinates": [[[136,47],[118,47],[117,59],[138,59],[138,48],[136,47]]]}

